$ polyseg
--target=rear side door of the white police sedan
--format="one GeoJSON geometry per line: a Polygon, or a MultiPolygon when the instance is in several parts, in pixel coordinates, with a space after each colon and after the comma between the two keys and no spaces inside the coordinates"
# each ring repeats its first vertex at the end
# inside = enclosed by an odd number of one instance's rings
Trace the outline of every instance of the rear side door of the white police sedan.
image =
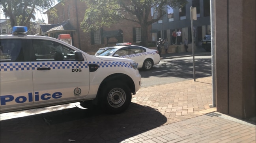
{"type": "Polygon", "coordinates": [[[129,46],[129,53],[130,59],[138,63],[139,67],[142,67],[146,57],[146,49],[138,46],[129,46]]]}

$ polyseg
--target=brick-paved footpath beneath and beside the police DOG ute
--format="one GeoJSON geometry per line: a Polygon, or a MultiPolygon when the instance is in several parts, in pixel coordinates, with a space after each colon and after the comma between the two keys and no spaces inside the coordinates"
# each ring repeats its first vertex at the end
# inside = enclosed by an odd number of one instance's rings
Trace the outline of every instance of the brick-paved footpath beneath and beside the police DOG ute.
{"type": "Polygon", "coordinates": [[[255,143],[255,125],[211,108],[211,81],[141,88],[117,115],[81,109],[79,103],[4,113],[0,142],[255,143]]]}

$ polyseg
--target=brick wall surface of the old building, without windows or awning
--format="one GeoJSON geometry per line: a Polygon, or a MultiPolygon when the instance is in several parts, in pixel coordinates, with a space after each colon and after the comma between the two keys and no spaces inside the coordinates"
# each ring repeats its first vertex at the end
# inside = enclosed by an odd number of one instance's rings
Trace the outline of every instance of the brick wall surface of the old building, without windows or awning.
{"type": "MultiPolygon", "coordinates": [[[[63,22],[63,14],[62,10],[64,9],[64,20],[69,20],[71,25],[76,29],[73,32],[73,46],[81,49],[82,51],[87,52],[88,54],[94,54],[99,48],[107,47],[115,44],[107,45],[107,38],[104,38],[103,44],[91,44],[91,36],[90,33],[84,33],[83,30],[80,28],[80,22],[84,19],[84,13],[86,11],[86,4],[81,2],[80,0],[66,0],[64,4],[58,3],[54,6],[54,8],[58,11],[58,18],[60,19],[59,22],[63,22]],[[76,4],[77,3],[77,4],[76,4]],[[67,7],[69,5],[69,19],[68,19],[68,12],[67,7]]],[[[50,21],[48,18],[49,24],[57,24],[58,18],[50,21]]],[[[112,27],[103,27],[103,31],[115,31],[115,30],[122,30],[123,31],[123,40],[124,42],[131,42],[133,43],[133,27],[140,27],[138,23],[123,20],[120,21],[118,24],[112,25],[112,27]]],[[[151,26],[148,28],[148,40],[151,40],[150,36],[151,26]]],[[[116,42],[116,38],[110,38],[108,42],[116,42]]],[[[135,44],[135,43],[133,43],[135,44]]]]}

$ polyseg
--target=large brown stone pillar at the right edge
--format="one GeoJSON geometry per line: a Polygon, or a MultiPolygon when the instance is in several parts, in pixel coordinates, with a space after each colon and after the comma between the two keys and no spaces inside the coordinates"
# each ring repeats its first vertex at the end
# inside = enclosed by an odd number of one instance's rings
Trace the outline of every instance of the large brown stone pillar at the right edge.
{"type": "Polygon", "coordinates": [[[255,117],[255,0],[211,0],[211,4],[217,111],[236,118],[255,117]]]}

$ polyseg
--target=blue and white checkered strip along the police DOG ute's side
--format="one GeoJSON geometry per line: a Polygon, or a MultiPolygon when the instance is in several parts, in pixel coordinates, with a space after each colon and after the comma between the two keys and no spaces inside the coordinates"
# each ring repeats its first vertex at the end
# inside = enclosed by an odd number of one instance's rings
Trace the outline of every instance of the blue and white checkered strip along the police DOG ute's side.
{"type": "Polygon", "coordinates": [[[25,71],[35,70],[37,67],[51,67],[52,69],[82,69],[88,68],[88,64],[97,64],[99,67],[129,67],[125,62],[19,62],[19,63],[0,63],[0,71],[25,71]]]}

